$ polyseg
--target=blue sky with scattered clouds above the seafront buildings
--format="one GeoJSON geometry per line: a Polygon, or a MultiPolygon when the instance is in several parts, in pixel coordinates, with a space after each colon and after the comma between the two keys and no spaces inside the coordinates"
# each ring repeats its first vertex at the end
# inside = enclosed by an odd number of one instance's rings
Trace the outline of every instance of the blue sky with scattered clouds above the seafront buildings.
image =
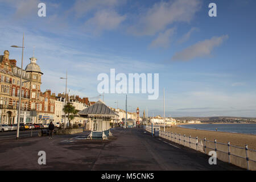
{"type": "MultiPolygon", "coordinates": [[[[256,117],[256,2],[254,0],[0,0],[0,54],[24,68],[34,55],[41,90],[68,90],[92,101],[100,73],[159,73],[159,97],[127,94],[127,109],[167,117],[256,117]],[[209,3],[217,16],[210,17],[209,3]],[[38,16],[38,4],[46,16],[38,16]]],[[[125,109],[126,94],[104,94],[125,109]]]]}

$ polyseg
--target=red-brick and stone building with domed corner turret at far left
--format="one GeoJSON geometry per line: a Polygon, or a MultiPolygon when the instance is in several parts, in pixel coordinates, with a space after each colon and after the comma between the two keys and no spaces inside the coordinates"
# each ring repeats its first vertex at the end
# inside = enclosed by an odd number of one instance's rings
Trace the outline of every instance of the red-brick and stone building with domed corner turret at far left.
{"type": "Polygon", "coordinates": [[[54,99],[52,100],[51,91],[42,93],[40,90],[43,73],[36,64],[37,59],[31,57],[30,60],[31,63],[21,71],[16,65],[17,61],[9,59],[9,51],[4,51],[3,55],[0,55],[0,123],[2,124],[17,123],[21,72],[23,75],[20,122],[31,123],[32,120],[40,122],[43,121],[39,119],[40,113],[54,114],[54,99]],[[36,110],[38,116],[31,117],[30,110],[36,110]]]}

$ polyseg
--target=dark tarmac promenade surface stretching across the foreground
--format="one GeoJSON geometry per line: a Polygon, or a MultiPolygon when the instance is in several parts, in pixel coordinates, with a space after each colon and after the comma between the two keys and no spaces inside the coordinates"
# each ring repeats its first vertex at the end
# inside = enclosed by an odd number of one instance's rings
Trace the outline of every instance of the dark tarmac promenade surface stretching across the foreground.
{"type": "Polygon", "coordinates": [[[208,163],[209,156],[151,137],[143,129],[111,130],[109,140],[76,139],[76,135],[23,138],[0,143],[1,170],[242,170],[232,164],[208,163]],[[38,152],[46,152],[46,165],[38,152]]]}

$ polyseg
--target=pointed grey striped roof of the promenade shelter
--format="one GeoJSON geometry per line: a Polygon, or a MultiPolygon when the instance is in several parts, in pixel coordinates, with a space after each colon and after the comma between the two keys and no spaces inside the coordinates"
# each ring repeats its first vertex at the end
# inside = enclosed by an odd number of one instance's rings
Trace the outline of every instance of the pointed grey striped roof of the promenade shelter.
{"type": "Polygon", "coordinates": [[[95,104],[79,111],[79,115],[117,115],[115,111],[111,110],[103,102],[98,101],[95,104]]]}

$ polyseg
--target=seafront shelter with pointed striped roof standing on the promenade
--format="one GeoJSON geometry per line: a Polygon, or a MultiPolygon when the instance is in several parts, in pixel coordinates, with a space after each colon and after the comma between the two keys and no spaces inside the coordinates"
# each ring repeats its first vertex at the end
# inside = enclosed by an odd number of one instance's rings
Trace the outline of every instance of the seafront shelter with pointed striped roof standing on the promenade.
{"type": "Polygon", "coordinates": [[[113,110],[98,101],[78,113],[81,117],[87,118],[90,128],[90,139],[108,139],[110,133],[110,120],[118,116],[113,110]]]}

